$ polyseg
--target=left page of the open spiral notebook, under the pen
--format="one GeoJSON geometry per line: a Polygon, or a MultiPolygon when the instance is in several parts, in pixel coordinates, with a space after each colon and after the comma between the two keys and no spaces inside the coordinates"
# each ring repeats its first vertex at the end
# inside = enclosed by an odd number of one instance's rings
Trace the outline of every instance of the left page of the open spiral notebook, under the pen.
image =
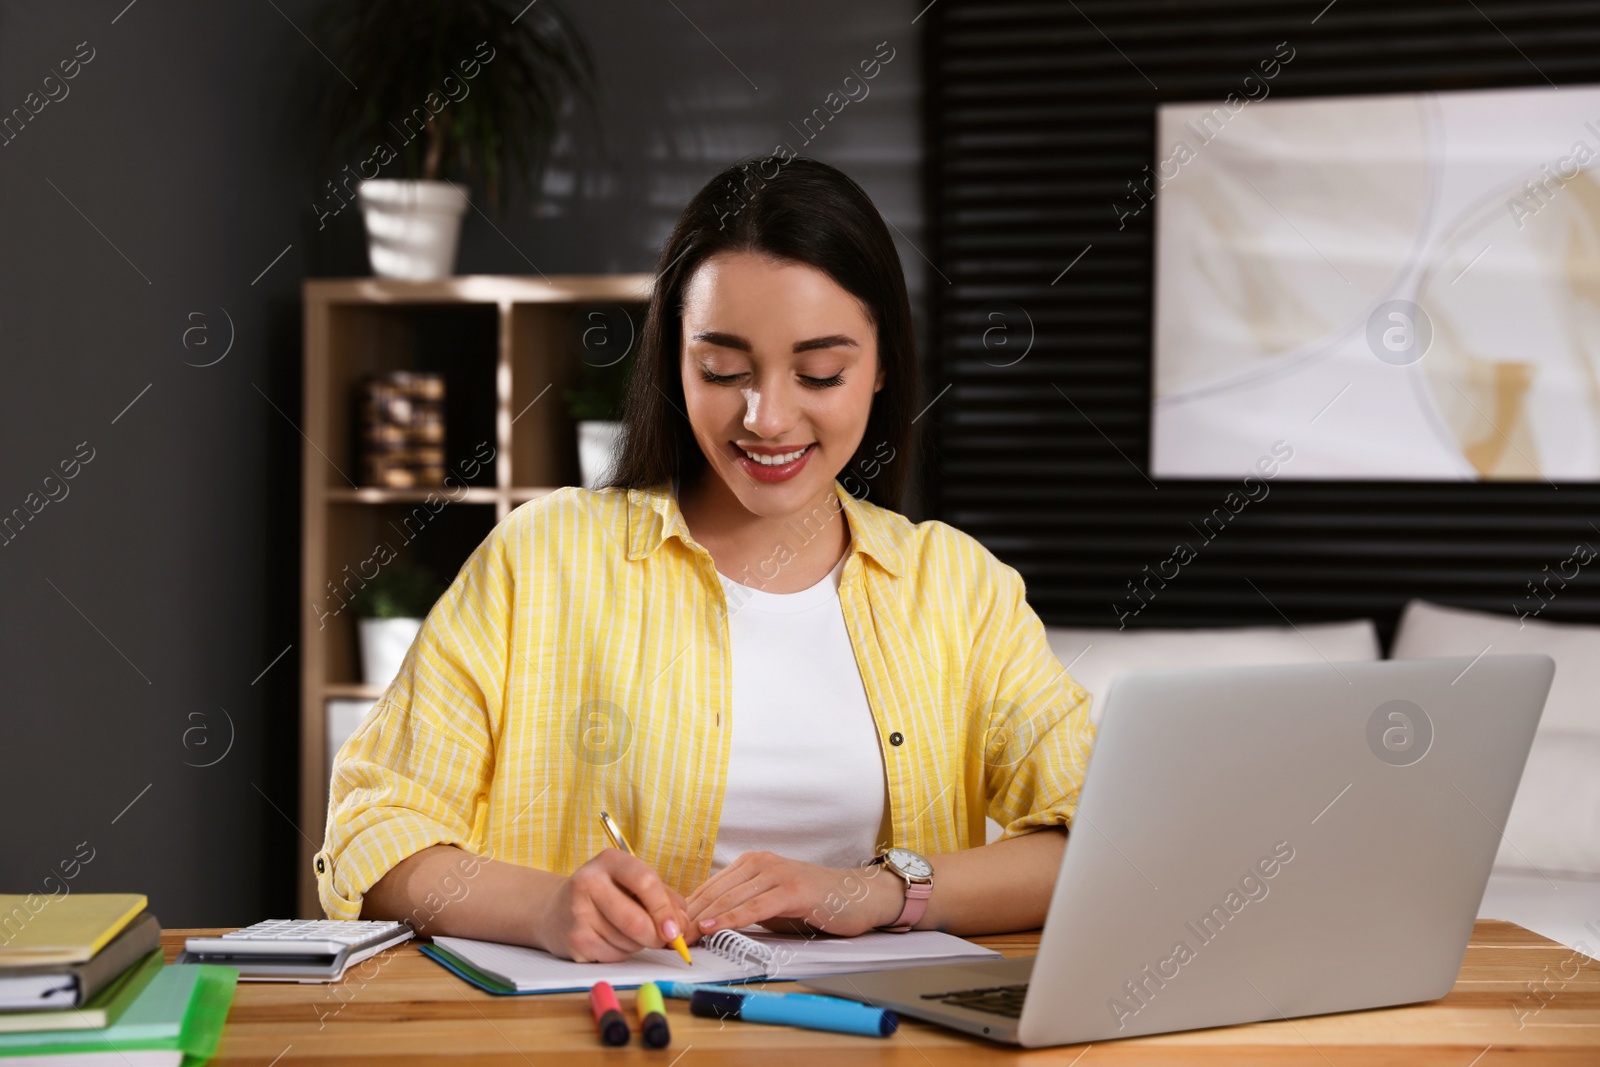
{"type": "Polygon", "coordinates": [[[645,982],[739,982],[762,976],[760,968],[739,966],[709,952],[694,952],[694,966],[672,949],[643,949],[619,963],[573,963],[539,949],[494,941],[434,937],[434,942],[522,993],[587,990],[595,982],[624,989],[645,982]]]}

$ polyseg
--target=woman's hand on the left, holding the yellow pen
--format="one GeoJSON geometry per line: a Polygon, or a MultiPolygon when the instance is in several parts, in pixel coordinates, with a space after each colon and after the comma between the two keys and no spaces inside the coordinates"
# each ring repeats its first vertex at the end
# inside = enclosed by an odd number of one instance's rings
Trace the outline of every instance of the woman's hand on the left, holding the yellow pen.
{"type": "Polygon", "coordinates": [[[536,939],[578,963],[614,963],[690,933],[683,897],[650,864],[616,848],[574,870],[536,921],[536,939]]]}

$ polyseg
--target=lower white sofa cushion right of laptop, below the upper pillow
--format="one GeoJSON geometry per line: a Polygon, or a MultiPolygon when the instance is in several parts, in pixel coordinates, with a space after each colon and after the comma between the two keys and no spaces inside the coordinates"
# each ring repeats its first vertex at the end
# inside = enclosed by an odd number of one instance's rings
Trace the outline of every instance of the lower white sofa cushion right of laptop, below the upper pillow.
{"type": "Polygon", "coordinates": [[[1494,867],[1600,873],[1600,734],[1539,728],[1494,867]]]}

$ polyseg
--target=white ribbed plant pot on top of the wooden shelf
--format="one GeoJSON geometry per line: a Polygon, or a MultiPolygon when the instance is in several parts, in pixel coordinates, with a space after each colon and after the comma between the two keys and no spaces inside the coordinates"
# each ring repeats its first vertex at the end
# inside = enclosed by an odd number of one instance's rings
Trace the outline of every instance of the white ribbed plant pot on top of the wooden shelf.
{"type": "Polygon", "coordinates": [[[374,178],[357,189],[366,258],[379,278],[430,282],[456,269],[467,190],[446,181],[374,178]]]}

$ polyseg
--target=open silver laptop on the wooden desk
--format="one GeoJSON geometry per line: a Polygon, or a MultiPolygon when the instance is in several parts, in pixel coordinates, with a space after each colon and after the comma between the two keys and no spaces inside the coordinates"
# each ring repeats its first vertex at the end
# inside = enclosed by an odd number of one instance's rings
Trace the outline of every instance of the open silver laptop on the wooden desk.
{"type": "Polygon", "coordinates": [[[1022,1046],[1443,997],[1554,675],[1549,656],[1125,673],[1037,957],[803,985],[1022,1046]]]}

